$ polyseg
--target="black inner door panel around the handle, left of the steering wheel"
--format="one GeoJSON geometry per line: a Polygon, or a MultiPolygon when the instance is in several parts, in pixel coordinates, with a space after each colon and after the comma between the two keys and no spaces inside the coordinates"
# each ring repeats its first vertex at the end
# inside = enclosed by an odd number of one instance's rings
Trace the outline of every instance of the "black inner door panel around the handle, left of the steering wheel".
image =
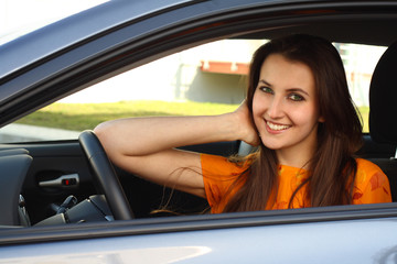
{"type": "Polygon", "coordinates": [[[54,215],[69,195],[82,200],[95,194],[93,179],[78,142],[2,144],[0,150],[26,150],[32,164],[23,180],[21,194],[25,199],[32,224],[54,215]],[[78,183],[66,186],[41,186],[63,175],[78,175],[78,183]]]}

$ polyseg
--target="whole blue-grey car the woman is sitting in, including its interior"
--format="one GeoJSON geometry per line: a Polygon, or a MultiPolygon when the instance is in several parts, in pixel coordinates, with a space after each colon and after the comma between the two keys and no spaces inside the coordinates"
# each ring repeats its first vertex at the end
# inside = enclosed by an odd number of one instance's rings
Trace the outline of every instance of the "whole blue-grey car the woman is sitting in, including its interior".
{"type": "MultiPolygon", "coordinates": [[[[3,129],[110,77],[214,41],[307,33],[335,45],[389,47],[368,77],[371,134],[363,133],[357,155],[386,173],[394,202],[211,215],[201,198],[115,167],[93,128],[78,139],[7,139],[0,144],[0,263],[394,262],[396,25],[396,1],[118,0],[2,44],[3,129]],[[171,212],[152,213],[170,195],[171,212]]],[[[140,92],[140,84],[129,90],[140,92]]],[[[28,136],[25,127],[13,128],[28,136]]],[[[244,147],[218,142],[183,148],[227,156],[244,147]]]]}

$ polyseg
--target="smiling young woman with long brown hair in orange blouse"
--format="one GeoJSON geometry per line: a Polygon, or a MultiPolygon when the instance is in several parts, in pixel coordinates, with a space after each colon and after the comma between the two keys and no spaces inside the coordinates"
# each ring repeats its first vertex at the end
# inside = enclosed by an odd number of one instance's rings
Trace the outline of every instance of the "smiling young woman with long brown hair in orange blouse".
{"type": "Polygon", "coordinates": [[[214,213],[391,201],[385,174],[354,158],[362,127],[343,64],[315,36],[259,47],[247,99],[232,113],[114,120],[95,132],[116,165],[204,197],[214,213]],[[174,148],[236,140],[258,151],[224,158],[174,148]]]}

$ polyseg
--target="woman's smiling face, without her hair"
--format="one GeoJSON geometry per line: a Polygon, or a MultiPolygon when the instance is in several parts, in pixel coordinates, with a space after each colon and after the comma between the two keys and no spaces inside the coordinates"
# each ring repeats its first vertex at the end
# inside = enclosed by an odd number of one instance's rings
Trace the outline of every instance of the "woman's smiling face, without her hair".
{"type": "Polygon", "coordinates": [[[278,154],[282,151],[285,154],[312,155],[318,122],[323,120],[319,114],[311,69],[282,55],[269,55],[260,69],[253,114],[267,147],[276,150],[278,154]]]}

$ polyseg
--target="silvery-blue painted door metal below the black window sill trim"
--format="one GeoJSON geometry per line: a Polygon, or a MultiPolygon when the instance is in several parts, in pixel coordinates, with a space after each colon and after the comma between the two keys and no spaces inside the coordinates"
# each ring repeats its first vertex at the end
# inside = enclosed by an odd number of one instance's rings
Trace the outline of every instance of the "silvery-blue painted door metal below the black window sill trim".
{"type": "Polygon", "coordinates": [[[396,231],[394,218],[144,234],[2,246],[0,263],[388,263],[397,243],[379,234],[396,231]]]}

